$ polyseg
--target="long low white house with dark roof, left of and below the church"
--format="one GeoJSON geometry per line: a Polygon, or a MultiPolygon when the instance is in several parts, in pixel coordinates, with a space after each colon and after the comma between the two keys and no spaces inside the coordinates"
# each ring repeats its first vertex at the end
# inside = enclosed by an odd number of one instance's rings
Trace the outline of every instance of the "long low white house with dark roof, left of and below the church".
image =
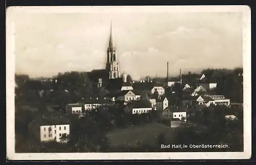
{"type": "Polygon", "coordinates": [[[96,98],[96,99],[84,100],[83,104],[84,104],[85,111],[92,111],[92,109],[96,109],[97,107],[102,105],[112,105],[114,104],[114,102],[106,98],[103,98],[103,99],[96,98]]]}

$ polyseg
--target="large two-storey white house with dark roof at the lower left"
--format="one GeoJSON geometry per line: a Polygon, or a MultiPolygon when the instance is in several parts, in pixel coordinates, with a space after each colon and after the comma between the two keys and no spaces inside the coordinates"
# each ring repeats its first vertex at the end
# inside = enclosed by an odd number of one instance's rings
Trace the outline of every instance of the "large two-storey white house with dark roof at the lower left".
{"type": "Polygon", "coordinates": [[[41,117],[33,120],[28,125],[29,132],[41,142],[68,142],[62,139],[70,134],[70,122],[61,117],[41,117]]]}

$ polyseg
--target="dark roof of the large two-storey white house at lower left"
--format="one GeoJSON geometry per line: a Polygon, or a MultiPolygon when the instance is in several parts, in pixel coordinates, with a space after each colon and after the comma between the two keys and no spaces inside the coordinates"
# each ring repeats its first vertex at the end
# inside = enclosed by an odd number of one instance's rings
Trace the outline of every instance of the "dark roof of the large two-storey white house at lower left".
{"type": "Polygon", "coordinates": [[[40,126],[70,124],[70,121],[65,117],[40,117],[33,121],[40,126]]]}

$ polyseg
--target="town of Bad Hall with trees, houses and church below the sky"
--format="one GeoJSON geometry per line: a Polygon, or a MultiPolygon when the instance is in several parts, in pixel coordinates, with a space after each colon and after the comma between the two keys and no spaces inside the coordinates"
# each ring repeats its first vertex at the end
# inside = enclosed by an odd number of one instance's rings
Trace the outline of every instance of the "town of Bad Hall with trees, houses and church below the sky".
{"type": "Polygon", "coordinates": [[[242,151],[243,68],[169,76],[163,65],[166,77],[120,73],[111,29],[105,69],[15,74],[15,151],[242,151]]]}

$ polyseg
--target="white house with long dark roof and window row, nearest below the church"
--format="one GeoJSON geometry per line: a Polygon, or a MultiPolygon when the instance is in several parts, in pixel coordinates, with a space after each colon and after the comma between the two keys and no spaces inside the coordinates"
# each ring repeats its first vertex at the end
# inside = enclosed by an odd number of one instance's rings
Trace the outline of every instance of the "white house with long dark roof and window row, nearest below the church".
{"type": "Polygon", "coordinates": [[[148,100],[134,100],[126,105],[124,111],[129,114],[149,113],[152,111],[152,104],[148,100]]]}

